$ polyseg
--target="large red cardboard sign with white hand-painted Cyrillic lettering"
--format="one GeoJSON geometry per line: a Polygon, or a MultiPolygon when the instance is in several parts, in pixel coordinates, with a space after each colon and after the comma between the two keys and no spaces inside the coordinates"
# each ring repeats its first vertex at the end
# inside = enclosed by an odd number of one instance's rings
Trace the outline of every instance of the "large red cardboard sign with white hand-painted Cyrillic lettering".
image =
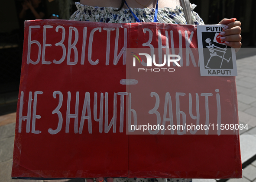
{"type": "Polygon", "coordinates": [[[196,48],[194,25],[26,21],[13,179],[240,178],[235,78],[196,48]]]}

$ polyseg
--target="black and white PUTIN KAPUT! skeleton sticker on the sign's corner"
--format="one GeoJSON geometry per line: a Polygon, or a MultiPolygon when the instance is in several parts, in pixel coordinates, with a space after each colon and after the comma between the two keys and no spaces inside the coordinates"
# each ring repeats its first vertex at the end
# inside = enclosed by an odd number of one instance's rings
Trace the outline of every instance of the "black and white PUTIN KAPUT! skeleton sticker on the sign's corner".
{"type": "Polygon", "coordinates": [[[220,39],[224,26],[197,25],[201,76],[237,76],[235,49],[220,39]]]}

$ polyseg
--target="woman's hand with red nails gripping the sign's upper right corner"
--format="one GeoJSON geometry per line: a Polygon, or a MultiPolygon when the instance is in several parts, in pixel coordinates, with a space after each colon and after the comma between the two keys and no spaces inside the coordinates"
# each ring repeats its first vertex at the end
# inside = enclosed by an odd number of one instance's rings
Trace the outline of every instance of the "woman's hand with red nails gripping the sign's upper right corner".
{"type": "Polygon", "coordinates": [[[233,19],[223,19],[219,24],[226,25],[223,28],[223,31],[220,32],[221,40],[225,41],[225,44],[229,47],[235,48],[236,52],[242,46],[241,40],[241,22],[236,21],[236,18],[233,19]]]}

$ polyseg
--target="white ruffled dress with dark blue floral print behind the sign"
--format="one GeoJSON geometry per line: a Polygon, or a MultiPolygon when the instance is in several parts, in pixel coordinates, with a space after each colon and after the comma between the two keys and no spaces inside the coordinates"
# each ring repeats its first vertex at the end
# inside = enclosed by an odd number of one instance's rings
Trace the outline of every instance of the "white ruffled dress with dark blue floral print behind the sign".
{"type": "MultiPolygon", "coordinates": [[[[98,7],[87,6],[79,2],[75,3],[77,11],[70,17],[69,20],[87,21],[87,22],[104,22],[104,23],[133,23],[136,22],[129,9],[121,9],[114,11],[117,8],[113,7],[98,7]]],[[[204,25],[204,21],[194,12],[196,5],[191,5],[192,20],[195,25],[204,25]]],[[[141,22],[154,22],[154,8],[131,8],[134,14],[141,22]]],[[[176,6],[173,8],[159,8],[157,14],[159,23],[175,23],[187,24],[183,8],[176,6]]],[[[94,182],[95,179],[94,179],[94,182]]],[[[174,179],[174,178],[115,178],[114,182],[192,182],[192,179],[174,179]]]]}

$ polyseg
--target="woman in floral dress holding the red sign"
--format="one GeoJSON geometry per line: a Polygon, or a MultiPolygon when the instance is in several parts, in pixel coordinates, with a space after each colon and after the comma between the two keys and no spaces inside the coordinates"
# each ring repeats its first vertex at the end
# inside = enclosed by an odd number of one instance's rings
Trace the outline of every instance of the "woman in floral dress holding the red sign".
{"type": "MultiPolygon", "coordinates": [[[[194,12],[196,5],[192,4],[191,19],[186,19],[183,8],[185,3],[180,0],[80,0],[76,6],[78,10],[71,16],[70,20],[106,23],[131,23],[131,22],[159,22],[188,24],[190,21],[194,25],[204,25],[198,13],[194,12]],[[182,6],[183,5],[183,6],[182,6]],[[182,7],[181,7],[182,6],[182,7]]],[[[187,9],[188,7],[186,7],[187,9]]],[[[226,25],[220,33],[221,40],[227,46],[241,47],[241,23],[233,19],[223,19],[219,24],[226,25]]],[[[192,179],[130,179],[119,178],[120,182],[190,182],[192,179]]],[[[103,182],[102,177],[96,182],[103,182]]],[[[87,179],[93,182],[93,179],[87,179]]],[[[113,178],[108,178],[107,182],[113,182],[113,178]]]]}

